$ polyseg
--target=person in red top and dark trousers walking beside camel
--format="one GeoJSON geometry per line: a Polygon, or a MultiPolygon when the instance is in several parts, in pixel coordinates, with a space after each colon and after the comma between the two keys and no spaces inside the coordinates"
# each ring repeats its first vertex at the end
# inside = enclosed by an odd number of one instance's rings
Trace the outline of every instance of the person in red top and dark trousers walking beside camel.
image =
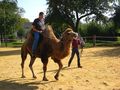
{"type": "Polygon", "coordinates": [[[80,53],[79,53],[79,48],[78,46],[80,45],[80,39],[78,37],[74,38],[72,41],[72,53],[71,53],[71,57],[68,61],[68,67],[70,67],[70,64],[74,58],[74,55],[77,55],[77,66],[78,68],[82,68],[81,64],[80,64],[80,53]]]}

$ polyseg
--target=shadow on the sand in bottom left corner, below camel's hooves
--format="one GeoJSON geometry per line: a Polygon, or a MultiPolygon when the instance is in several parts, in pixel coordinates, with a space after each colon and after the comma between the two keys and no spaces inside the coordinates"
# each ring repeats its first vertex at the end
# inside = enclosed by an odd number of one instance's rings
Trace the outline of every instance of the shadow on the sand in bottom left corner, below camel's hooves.
{"type": "Polygon", "coordinates": [[[56,82],[56,80],[55,81],[36,81],[36,80],[31,81],[31,80],[28,80],[28,81],[25,82],[24,79],[22,79],[22,80],[17,80],[17,79],[2,80],[2,81],[0,81],[0,90],[38,90],[40,85],[45,86],[45,84],[56,82]]]}

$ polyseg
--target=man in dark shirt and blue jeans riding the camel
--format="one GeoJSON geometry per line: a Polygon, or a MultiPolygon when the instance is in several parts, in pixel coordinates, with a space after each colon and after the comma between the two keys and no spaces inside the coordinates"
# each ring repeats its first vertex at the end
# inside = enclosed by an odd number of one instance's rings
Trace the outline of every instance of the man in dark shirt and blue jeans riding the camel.
{"type": "Polygon", "coordinates": [[[45,23],[44,23],[43,16],[44,16],[44,13],[40,12],[39,17],[36,18],[34,20],[34,22],[32,23],[32,31],[33,31],[33,35],[34,35],[34,41],[33,41],[33,45],[32,45],[32,55],[33,56],[35,54],[40,35],[45,30],[45,23]]]}

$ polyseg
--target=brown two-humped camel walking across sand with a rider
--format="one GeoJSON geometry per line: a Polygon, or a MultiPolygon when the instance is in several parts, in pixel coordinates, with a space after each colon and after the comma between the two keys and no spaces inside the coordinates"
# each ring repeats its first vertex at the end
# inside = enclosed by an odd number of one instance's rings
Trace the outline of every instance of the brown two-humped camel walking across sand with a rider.
{"type": "Polygon", "coordinates": [[[59,69],[57,70],[57,73],[54,76],[54,78],[58,80],[59,73],[63,67],[61,60],[69,55],[72,40],[74,37],[77,36],[77,33],[73,32],[71,28],[67,28],[61,35],[62,36],[61,39],[58,39],[54,35],[52,26],[48,25],[47,29],[42,33],[42,35],[43,35],[43,40],[40,41],[40,44],[38,44],[37,50],[35,52],[35,57],[32,57],[31,54],[31,47],[33,43],[32,31],[29,32],[26,41],[23,43],[21,47],[22,78],[25,78],[24,63],[27,54],[29,54],[31,56],[29,67],[32,72],[33,78],[37,78],[37,77],[34,74],[32,65],[34,64],[36,58],[41,58],[41,61],[43,63],[43,73],[44,73],[43,81],[48,81],[46,77],[46,71],[47,71],[48,58],[51,57],[54,60],[54,62],[57,63],[59,66],[59,69]]]}

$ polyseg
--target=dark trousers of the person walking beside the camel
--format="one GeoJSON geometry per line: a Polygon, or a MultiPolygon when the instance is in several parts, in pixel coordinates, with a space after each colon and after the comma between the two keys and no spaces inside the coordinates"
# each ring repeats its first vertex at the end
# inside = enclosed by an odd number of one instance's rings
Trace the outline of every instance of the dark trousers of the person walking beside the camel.
{"type": "Polygon", "coordinates": [[[75,54],[77,55],[77,65],[78,65],[78,67],[80,66],[80,53],[79,53],[78,48],[72,49],[72,53],[71,53],[71,57],[70,57],[69,62],[68,62],[68,66],[70,66],[75,54]]]}

